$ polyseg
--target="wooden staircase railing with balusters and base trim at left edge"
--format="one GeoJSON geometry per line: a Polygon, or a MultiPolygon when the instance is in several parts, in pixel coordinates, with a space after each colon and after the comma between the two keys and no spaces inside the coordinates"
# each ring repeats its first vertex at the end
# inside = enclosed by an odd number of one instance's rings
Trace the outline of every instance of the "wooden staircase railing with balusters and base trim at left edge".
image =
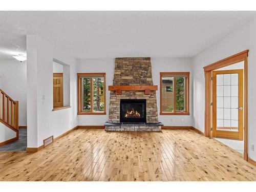
{"type": "MultiPolygon", "coordinates": [[[[0,143],[0,146],[18,139],[18,101],[14,101],[0,89],[0,123],[16,132],[16,138],[0,143]]],[[[1,132],[1,130],[0,130],[1,132]]]]}

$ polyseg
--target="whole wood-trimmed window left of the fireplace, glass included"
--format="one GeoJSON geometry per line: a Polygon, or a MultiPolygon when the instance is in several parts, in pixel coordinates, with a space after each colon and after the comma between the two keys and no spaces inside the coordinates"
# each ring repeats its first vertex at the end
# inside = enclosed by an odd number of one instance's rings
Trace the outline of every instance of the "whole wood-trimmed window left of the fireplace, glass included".
{"type": "Polygon", "coordinates": [[[105,115],[105,73],[78,73],[78,115],[105,115]]]}

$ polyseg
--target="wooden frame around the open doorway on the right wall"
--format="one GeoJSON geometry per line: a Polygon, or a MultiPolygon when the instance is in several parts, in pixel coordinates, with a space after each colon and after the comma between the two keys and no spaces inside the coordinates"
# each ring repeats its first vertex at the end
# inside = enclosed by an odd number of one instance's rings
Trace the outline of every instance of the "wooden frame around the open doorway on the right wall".
{"type": "Polygon", "coordinates": [[[212,137],[210,131],[212,114],[211,114],[211,73],[214,70],[232,65],[234,63],[244,61],[244,160],[248,161],[248,52],[249,50],[242,51],[230,57],[212,63],[204,67],[205,74],[205,120],[204,120],[204,134],[206,137],[212,137]]]}

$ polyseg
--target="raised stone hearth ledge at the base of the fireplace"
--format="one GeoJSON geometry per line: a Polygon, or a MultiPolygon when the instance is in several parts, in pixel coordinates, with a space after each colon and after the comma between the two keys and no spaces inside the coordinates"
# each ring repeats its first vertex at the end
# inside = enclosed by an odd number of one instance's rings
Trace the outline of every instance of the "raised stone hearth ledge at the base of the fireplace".
{"type": "Polygon", "coordinates": [[[110,123],[104,124],[105,131],[161,131],[163,123],[110,123]]]}

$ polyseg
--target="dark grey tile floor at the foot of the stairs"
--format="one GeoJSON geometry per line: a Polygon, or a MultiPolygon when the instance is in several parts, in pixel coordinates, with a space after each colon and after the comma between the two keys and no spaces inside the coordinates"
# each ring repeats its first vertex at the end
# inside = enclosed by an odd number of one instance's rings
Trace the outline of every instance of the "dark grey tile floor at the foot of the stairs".
{"type": "Polygon", "coordinates": [[[27,129],[19,129],[19,139],[17,141],[0,146],[0,151],[22,152],[27,148],[27,129]]]}

